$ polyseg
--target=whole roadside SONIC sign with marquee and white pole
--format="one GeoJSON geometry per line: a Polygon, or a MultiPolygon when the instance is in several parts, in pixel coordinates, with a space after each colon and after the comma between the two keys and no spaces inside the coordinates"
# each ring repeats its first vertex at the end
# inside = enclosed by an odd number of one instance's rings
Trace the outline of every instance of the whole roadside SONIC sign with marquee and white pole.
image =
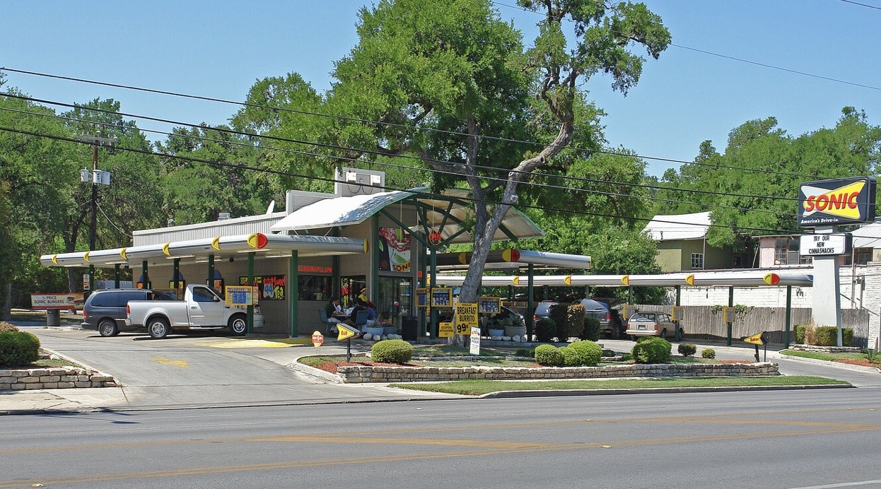
{"type": "Polygon", "coordinates": [[[838,255],[848,238],[836,234],[837,226],[875,220],[875,177],[805,182],[798,186],[798,226],[813,227],[808,244],[813,252],[813,320],[838,328],[841,346],[841,300],[838,255]]]}

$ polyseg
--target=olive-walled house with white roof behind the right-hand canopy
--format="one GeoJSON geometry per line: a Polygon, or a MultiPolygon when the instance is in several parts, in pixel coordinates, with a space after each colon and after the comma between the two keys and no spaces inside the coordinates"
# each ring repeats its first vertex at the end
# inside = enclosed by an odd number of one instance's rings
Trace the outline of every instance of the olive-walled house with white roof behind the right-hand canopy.
{"type": "Polygon", "coordinates": [[[657,215],[643,228],[658,248],[655,262],[661,271],[729,269],[735,263],[732,248],[707,244],[710,213],[657,215]]]}

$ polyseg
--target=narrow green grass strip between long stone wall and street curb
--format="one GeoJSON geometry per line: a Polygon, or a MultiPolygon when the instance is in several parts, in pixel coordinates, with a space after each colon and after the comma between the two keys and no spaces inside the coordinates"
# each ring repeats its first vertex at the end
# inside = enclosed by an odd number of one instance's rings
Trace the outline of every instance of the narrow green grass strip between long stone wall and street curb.
{"type": "Polygon", "coordinates": [[[575,381],[457,381],[438,383],[398,383],[391,387],[426,390],[447,394],[481,396],[501,390],[564,390],[564,389],[661,389],[676,387],[757,387],[787,385],[850,385],[824,377],[806,375],[775,375],[769,377],[714,377],[704,379],[608,379],[575,381]]]}

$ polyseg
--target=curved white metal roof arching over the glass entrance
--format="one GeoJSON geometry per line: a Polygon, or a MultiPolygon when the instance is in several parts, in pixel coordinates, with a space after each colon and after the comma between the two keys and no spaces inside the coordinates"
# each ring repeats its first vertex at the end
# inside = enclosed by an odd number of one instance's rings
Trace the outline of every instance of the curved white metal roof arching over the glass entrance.
{"type": "MultiPolygon", "coordinates": [[[[469,219],[468,199],[470,193],[463,189],[448,189],[442,196],[429,195],[428,189],[394,190],[369,195],[327,198],[308,204],[291,212],[271,226],[272,231],[300,231],[334,226],[360,224],[377,212],[404,200],[411,200],[418,208],[416,222],[404,222],[411,231],[424,227],[441,226],[438,231],[446,243],[471,242],[470,233],[464,232],[462,223],[469,219]]],[[[511,208],[493,240],[522,240],[544,236],[525,214],[511,208]]]]}

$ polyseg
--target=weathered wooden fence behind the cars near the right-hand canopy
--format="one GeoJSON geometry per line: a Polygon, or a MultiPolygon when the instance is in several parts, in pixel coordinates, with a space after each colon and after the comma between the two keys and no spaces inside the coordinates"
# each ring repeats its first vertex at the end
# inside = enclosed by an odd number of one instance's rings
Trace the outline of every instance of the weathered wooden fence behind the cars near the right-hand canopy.
{"type": "MultiPolygon", "coordinates": [[[[670,312],[670,306],[637,305],[640,311],[670,312]]],[[[792,308],[792,329],[789,342],[796,342],[796,324],[811,320],[811,309],[792,308]]],[[[716,306],[683,306],[683,318],[679,322],[685,337],[722,339],[728,337],[728,325],[722,322],[722,309],[716,306]]],[[[841,325],[854,329],[853,346],[865,347],[869,340],[869,311],[866,309],[841,309],[841,325]]],[[[734,322],[731,337],[739,341],[761,331],[766,331],[771,343],[783,343],[786,330],[786,307],[753,307],[742,319],[734,322]]]]}

